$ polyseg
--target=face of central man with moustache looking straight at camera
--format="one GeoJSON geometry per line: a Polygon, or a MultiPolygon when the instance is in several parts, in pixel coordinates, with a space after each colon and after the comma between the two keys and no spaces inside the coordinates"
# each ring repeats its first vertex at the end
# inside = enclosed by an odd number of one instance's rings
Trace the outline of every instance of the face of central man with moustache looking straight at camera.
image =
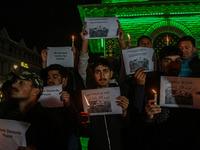
{"type": "Polygon", "coordinates": [[[94,69],[94,79],[99,88],[109,87],[109,81],[113,76],[113,71],[107,66],[99,65],[94,69]]]}

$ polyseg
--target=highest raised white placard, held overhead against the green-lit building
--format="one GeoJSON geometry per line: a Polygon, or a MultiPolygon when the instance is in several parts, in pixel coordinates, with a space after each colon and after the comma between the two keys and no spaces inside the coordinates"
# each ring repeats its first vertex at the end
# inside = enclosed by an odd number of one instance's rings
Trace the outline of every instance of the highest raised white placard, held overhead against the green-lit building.
{"type": "Polygon", "coordinates": [[[85,18],[86,39],[117,38],[117,17],[85,18]]]}

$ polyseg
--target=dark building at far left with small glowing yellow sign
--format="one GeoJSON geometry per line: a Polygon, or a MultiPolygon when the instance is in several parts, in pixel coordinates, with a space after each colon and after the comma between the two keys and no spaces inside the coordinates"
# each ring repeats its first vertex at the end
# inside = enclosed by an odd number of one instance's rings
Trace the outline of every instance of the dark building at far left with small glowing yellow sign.
{"type": "Polygon", "coordinates": [[[5,28],[0,30],[0,88],[10,71],[29,69],[39,73],[41,64],[41,55],[36,48],[29,49],[23,39],[17,43],[9,38],[5,28]]]}

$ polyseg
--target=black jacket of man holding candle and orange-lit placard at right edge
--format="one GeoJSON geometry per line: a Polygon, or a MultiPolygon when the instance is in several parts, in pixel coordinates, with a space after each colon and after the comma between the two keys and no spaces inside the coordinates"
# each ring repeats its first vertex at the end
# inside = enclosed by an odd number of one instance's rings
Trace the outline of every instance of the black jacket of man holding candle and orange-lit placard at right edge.
{"type": "MultiPolygon", "coordinates": [[[[153,97],[152,89],[160,91],[160,76],[148,82],[147,99],[153,97]],[[153,84],[154,83],[154,84],[153,84]]],[[[158,97],[159,100],[159,97],[158,97]]],[[[158,103],[159,104],[159,103],[158,103]]],[[[199,149],[200,110],[161,107],[162,111],[152,120],[146,119],[144,143],[147,149],[199,149]]],[[[145,115],[145,113],[144,113],[145,115]]]]}

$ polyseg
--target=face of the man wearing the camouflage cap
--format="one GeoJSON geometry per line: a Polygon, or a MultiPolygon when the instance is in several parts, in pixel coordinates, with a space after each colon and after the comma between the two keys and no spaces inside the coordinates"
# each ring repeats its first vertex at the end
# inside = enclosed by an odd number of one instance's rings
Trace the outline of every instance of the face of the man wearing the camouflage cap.
{"type": "Polygon", "coordinates": [[[28,80],[17,80],[12,84],[11,98],[13,99],[29,99],[35,95],[36,88],[32,86],[32,82],[28,80]]]}

